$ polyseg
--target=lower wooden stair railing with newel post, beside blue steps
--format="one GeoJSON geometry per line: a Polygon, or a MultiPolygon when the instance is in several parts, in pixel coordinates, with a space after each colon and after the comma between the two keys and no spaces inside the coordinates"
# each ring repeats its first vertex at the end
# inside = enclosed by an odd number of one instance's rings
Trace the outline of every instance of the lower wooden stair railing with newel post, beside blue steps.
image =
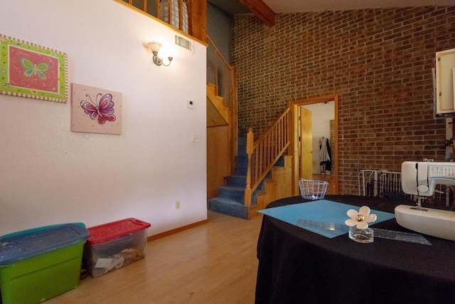
{"type": "Polygon", "coordinates": [[[252,193],[272,169],[279,157],[286,152],[291,143],[291,111],[287,108],[283,114],[256,141],[252,129],[247,133],[247,187],[245,206],[251,206],[252,193]]]}

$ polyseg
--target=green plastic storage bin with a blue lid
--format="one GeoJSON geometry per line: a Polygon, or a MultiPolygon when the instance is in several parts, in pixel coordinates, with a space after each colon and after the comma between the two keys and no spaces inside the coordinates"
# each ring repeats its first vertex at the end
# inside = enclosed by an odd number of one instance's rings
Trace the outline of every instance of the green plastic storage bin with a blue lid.
{"type": "Polygon", "coordinates": [[[82,223],[45,226],[1,236],[3,304],[40,303],[76,288],[87,237],[82,223]]]}

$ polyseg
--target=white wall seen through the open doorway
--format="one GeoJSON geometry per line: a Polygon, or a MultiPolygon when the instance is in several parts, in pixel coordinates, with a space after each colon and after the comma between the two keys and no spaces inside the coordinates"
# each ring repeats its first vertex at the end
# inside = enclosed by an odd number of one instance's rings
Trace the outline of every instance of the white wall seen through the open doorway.
{"type": "Polygon", "coordinates": [[[330,139],[330,121],[335,119],[335,103],[314,103],[305,105],[311,111],[311,134],[313,135],[313,174],[320,174],[319,166],[319,138],[330,139]]]}

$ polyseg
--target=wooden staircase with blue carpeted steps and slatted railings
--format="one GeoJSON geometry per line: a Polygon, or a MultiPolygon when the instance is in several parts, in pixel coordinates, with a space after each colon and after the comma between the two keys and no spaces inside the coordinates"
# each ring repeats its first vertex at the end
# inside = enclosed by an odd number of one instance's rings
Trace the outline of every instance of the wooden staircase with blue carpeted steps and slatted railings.
{"type": "Polygon", "coordinates": [[[208,42],[208,209],[250,219],[269,201],[291,194],[291,157],[283,157],[290,111],[284,110],[257,140],[251,129],[237,139],[237,72],[208,42]]]}

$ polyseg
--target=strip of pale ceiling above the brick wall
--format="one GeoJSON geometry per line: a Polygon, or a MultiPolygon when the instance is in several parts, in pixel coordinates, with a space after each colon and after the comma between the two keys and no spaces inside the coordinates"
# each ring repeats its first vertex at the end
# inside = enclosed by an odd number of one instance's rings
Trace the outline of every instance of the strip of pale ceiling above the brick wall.
{"type": "Polygon", "coordinates": [[[455,0],[262,0],[275,14],[408,6],[455,6],[455,0]]]}

